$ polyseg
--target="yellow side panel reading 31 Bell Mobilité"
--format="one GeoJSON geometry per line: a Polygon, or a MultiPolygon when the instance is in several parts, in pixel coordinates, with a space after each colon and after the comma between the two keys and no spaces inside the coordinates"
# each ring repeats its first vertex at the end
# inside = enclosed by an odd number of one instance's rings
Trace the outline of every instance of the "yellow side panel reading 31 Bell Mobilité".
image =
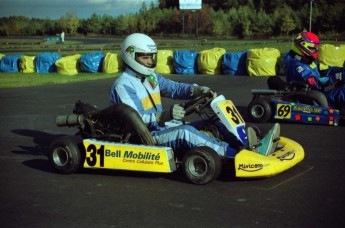
{"type": "Polygon", "coordinates": [[[176,170],[173,150],[169,147],[85,139],[84,168],[120,169],[171,173],[176,170]]]}

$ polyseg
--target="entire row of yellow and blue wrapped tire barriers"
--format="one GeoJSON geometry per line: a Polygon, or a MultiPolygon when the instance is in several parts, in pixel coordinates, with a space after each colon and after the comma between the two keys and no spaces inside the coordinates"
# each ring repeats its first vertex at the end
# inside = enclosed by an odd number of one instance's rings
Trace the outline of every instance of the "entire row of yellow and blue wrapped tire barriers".
{"type": "MultiPolygon", "coordinates": [[[[230,76],[285,75],[287,53],[275,48],[249,49],[230,52],[213,48],[194,50],[158,50],[156,72],[161,74],[223,74],[230,76]]],[[[321,66],[344,66],[345,45],[323,44],[318,58],[321,66]]],[[[0,54],[0,72],[53,73],[75,75],[79,72],[117,73],[125,69],[119,53],[75,54],[62,57],[60,53],[42,53],[37,56],[0,54]]]]}

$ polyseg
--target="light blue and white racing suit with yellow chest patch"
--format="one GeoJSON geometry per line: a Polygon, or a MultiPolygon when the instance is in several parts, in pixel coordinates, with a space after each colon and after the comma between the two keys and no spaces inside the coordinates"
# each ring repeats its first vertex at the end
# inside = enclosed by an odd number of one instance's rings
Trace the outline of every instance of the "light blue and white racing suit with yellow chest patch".
{"type": "MultiPolygon", "coordinates": [[[[135,72],[127,68],[112,85],[109,101],[111,105],[125,103],[137,110],[151,132],[156,145],[171,147],[174,151],[179,152],[196,146],[208,146],[221,156],[235,156],[238,152],[237,149],[230,147],[228,142],[209,137],[197,130],[197,122],[189,124],[181,122],[174,127],[158,124],[156,114],[163,110],[161,96],[180,100],[190,99],[194,86],[196,85],[174,82],[156,73],[141,79],[136,76],[135,72]]],[[[176,120],[172,121],[176,122],[176,120]]],[[[218,124],[221,124],[220,121],[218,124]]],[[[228,134],[230,133],[228,132],[228,134]]]]}

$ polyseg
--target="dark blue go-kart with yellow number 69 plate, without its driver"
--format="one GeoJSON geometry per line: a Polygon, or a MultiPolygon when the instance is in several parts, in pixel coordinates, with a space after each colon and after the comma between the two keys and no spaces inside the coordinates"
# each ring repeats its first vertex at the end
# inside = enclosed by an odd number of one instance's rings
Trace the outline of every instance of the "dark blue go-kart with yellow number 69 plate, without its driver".
{"type": "Polygon", "coordinates": [[[340,110],[328,105],[325,95],[304,82],[268,79],[269,89],[253,89],[247,114],[255,123],[272,120],[337,126],[344,119],[340,110]]]}

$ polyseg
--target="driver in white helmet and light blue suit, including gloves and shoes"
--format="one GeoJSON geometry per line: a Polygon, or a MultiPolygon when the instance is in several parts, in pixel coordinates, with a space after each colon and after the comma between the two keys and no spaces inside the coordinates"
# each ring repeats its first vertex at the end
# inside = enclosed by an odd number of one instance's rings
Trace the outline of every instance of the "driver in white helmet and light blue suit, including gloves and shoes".
{"type": "Polygon", "coordinates": [[[206,86],[175,82],[155,73],[157,47],[149,36],[134,33],[125,38],[121,45],[121,58],[126,69],[113,83],[109,102],[111,105],[125,103],[133,107],[148,127],[156,145],[171,147],[175,152],[208,146],[226,157],[234,157],[242,148],[252,149],[257,145],[261,146],[255,150],[264,155],[275,149],[273,138],[279,137],[279,124],[275,124],[259,144],[253,128],[248,127],[246,133],[243,127],[237,138],[217,120],[214,124],[224,139],[220,141],[212,137],[210,131],[200,131],[202,121],[183,124],[181,120],[185,110],[181,105],[175,104],[163,110],[161,97],[188,100],[203,93],[216,97],[216,93],[206,86]]]}

